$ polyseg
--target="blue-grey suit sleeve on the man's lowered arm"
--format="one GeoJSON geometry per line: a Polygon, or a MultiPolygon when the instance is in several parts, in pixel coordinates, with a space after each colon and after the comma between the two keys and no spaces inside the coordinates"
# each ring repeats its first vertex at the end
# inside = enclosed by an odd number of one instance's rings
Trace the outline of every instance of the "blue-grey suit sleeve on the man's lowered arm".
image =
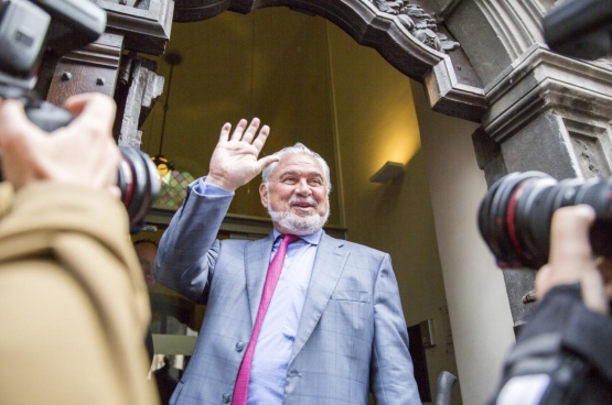
{"type": "Polygon", "coordinates": [[[408,352],[408,328],[388,254],[383,258],[374,288],[371,385],[376,404],[420,404],[408,352]]]}

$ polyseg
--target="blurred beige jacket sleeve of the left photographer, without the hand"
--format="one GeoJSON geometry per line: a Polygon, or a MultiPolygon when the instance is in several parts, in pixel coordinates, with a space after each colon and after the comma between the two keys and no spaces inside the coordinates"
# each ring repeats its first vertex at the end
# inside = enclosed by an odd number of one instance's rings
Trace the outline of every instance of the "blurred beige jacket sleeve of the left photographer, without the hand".
{"type": "Polygon", "coordinates": [[[0,184],[0,403],[158,404],[149,308],[119,201],[0,184]]]}

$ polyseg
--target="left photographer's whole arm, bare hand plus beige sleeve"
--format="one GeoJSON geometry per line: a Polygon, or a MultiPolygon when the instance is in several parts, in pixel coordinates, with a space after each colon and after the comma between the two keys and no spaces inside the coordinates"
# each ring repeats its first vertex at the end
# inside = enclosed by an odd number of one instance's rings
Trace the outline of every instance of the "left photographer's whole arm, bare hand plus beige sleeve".
{"type": "Polygon", "coordinates": [[[0,101],[2,398],[157,404],[146,380],[147,289],[126,209],[108,193],[119,158],[114,102],[86,95],[68,106],[78,117],[50,135],[19,103],[0,101]]]}

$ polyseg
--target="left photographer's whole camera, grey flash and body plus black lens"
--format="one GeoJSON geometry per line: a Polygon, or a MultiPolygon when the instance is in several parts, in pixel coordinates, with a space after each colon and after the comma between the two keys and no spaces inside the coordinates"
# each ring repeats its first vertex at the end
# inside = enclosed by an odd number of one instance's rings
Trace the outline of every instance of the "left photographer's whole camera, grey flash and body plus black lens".
{"type": "MultiPolygon", "coordinates": [[[[46,132],[73,116],[43,101],[33,90],[43,55],[62,55],[96,41],[106,29],[106,12],[89,0],[0,0],[0,97],[20,100],[28,118],[46,132]]],[[[117,185],[132,231],[143,225],[160,191],[151,158],[121,147],[117,185]]]]}

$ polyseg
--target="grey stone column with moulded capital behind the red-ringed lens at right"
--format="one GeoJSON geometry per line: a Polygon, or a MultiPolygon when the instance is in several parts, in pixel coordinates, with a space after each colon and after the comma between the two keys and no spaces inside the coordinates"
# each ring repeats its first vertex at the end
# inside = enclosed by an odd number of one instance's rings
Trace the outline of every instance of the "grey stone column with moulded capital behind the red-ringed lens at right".
{"type": "MultiPolygon", "coordinates": [[[[474,134],[491,185],[509,172],[557,179],[612,173],[612,68],[567,58],[534,43],[485,87],[490,109],[474,134]]],[[[515,328],[530,311],[535,272],[504,271],[515,328]]]]}

